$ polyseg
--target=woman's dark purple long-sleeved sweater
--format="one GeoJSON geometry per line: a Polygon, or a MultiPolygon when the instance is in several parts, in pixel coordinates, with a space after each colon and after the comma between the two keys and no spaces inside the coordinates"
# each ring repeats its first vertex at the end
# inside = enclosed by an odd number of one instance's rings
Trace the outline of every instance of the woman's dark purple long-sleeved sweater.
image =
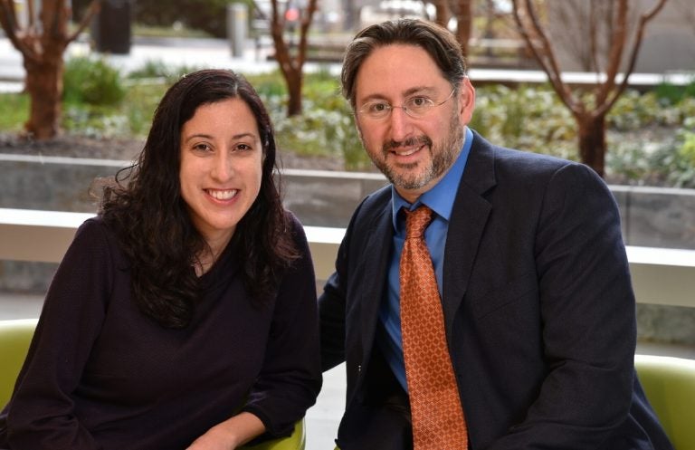
{"type": "Polygon", "coordinates": [[[81,225],[0,413],[0,448],[183,449],[240,409],[289,434],[321,385],[313,267],[293,227],[302,257],[272,302],[249,298],[230,245],[202,278],[190,326],[169,330],[131,300],[129,263],[107,226],[81,225]]]}

